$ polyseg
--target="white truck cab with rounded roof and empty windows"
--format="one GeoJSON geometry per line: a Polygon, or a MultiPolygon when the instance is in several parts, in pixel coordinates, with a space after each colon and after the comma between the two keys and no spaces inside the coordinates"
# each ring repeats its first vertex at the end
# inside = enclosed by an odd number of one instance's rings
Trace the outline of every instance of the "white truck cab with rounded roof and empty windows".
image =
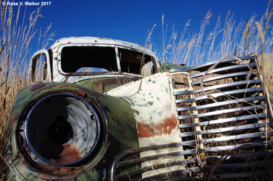
{"type": "Polygon", "coordinates": [[[76,83],[106,92],[157,73],[159,67],[155,54],[141,45],[114,39],[69,37],[32,56],[29,82],[76,83]]]}

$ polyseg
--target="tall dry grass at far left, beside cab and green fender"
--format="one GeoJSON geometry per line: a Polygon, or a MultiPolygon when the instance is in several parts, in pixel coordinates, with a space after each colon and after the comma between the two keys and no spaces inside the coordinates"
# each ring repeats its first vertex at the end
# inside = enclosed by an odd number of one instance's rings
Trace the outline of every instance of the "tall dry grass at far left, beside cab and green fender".
{"type": "MultiPolygon", "coordinates": [[[[30,42],[37,34],[36,21],[41,17],[39,7],[30,14],[26,21],[26,9],[14,12],[13,6],[3,6],[0,0],[0,148],[4,147],[4,127],[11,112],[15,96],[19,89],[29,85],[28,83],[28,60],[30,59],[30,42]],[[14,16],[16,15],[16,16],[14,16]],[[22,22],[19,18],[23,16],[22,22]]],[[[44,34],[40,34],[39,40],[43,39],[43,47],[51,40],[53,34],[48,35],[51,25],[44,34]]],[[[1,152],[3,153],[3,152],[1,152]]],[[[5,155],[1,155],[5,159],[5,155]]],[[[1,159],[0,175],[4,176],[3,159],[1,159]]],[[[2,178],[3,179],[3,178],[2,178]]]]}

